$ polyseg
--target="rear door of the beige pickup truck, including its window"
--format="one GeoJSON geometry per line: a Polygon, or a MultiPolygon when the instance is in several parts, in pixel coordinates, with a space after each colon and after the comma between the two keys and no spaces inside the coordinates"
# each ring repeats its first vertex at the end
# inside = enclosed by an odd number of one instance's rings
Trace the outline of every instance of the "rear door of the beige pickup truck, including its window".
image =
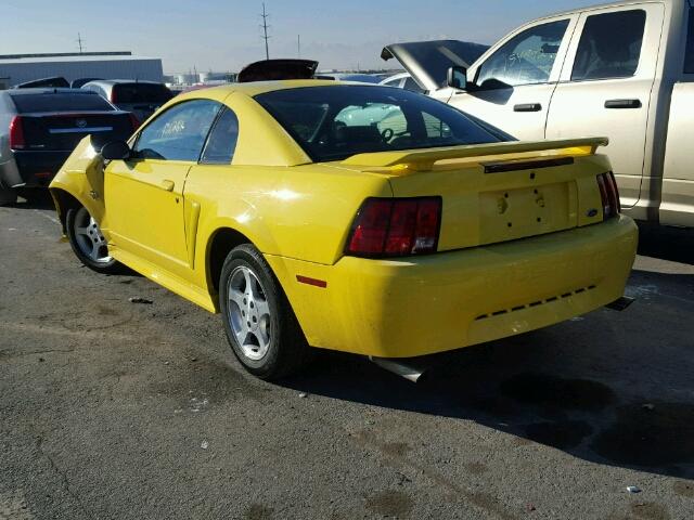
{"type": "Polygon", "coordinates": [[[640,198],[663,3],[581,14],[552,98],[548,138],[606,135],[621,204],[640,198]]]}

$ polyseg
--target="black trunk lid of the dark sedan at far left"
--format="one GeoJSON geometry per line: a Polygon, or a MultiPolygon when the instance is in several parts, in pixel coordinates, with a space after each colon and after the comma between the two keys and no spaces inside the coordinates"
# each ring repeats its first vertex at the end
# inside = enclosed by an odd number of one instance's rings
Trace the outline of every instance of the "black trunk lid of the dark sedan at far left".
{"type": "Polygon", "coordinates": [[[72,151],[86,135],[92,135],[93,144],[100,147],[108,141],[126,141],[133,131],[126,112],[35,113],[21,117],[28,151],[72,151]]]}

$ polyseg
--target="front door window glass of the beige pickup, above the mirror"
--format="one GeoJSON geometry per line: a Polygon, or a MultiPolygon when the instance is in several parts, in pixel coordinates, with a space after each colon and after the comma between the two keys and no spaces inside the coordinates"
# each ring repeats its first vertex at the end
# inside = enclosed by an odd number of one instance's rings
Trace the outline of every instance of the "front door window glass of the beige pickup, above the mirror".
{"type": "Polygon", "coordinates": [[[499,89],[549,81],[568,20],[537,25],[511,38],[477,72],[483,89],[499,89]]]}

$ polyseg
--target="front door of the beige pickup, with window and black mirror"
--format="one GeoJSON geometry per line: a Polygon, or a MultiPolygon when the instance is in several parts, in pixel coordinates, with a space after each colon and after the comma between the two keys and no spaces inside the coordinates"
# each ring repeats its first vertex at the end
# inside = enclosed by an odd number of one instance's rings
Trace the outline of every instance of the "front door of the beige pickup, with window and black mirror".
{"type": "Polygon", "coordinates": [[[525,26],[467,70],[448,102],[520,140],[544,139],[548,109],[577,16],[525,26]]]}

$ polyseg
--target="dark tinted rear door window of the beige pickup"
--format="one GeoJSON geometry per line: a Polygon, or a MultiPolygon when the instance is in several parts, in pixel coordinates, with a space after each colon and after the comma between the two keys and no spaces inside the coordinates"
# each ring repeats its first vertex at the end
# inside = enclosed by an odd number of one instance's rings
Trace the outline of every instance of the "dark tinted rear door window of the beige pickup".
{"type": "Polygon", "coordinates": [[[646,13],[594,14],[586,20],[571,80],[627,78],[639,66],[646,13]]]}

